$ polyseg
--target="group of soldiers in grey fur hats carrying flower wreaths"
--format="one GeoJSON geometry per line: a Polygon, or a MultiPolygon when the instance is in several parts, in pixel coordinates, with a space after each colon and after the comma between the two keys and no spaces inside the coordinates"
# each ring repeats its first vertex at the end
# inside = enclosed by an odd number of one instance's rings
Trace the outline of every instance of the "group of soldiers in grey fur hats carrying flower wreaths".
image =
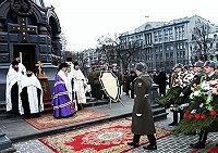
{"type": "Polygon", "coordinates": [[[218,130],[217,63],[197,61],[193,66],[178,63],[172,71],[169,89],[157,102],[173,113],[169,126],[175,126],[174,133],[198,133],[198,141],[190,145],[204,149],[207,133],[218,130]]]}

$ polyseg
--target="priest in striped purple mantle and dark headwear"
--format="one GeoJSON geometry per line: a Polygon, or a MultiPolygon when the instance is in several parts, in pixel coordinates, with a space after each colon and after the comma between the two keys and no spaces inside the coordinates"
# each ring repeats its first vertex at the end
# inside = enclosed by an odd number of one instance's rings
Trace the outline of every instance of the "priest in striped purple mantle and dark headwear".
{"type": "Polygon", "coordinates": [[[56,74],[53,86],[52,106],[53,117],[70,117],[76,113],[75,100],[70,95],[71,82],[68,78],[69,65],[61,63],[56,74]]]}

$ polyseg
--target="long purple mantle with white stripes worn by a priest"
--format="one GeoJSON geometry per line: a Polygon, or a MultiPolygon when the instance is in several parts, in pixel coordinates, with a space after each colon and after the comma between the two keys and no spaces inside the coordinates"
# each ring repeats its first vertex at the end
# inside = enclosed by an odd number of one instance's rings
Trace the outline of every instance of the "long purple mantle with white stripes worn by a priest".
{"type": "Polygon", "coordinates": [[[66,117],[74,114],[75,103],[69,98],[69,92],[65,87],[65,82],[59,75],[56,75],[56,82],[53,86],[52,95],[53,117],[66,117]]]}

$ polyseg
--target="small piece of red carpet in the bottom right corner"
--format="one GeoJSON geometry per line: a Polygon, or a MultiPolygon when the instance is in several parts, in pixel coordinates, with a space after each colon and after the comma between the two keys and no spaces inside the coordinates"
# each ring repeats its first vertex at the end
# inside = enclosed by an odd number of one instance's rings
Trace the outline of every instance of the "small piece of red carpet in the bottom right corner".
{"type": "Polygon", "coordinates": [[[209,141],[205,149],[194,149],[191,153],[218,153],[218,146],[216,146],[215,142],[209,141]]]}

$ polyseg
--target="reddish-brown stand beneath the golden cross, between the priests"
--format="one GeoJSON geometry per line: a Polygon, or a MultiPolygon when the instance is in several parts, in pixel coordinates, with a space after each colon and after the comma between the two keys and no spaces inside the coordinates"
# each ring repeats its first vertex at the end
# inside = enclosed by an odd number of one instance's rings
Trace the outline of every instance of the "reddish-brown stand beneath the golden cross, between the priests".
{"type": "Polygon", "coordinates": [[[44,90],[44,113],[50,113],[52,112],[52,105],[51,105],[52,99],[51,99],[51,92],[50,92],[48,79],[47,77],[39,77],[38,79],[44,90]]]}

